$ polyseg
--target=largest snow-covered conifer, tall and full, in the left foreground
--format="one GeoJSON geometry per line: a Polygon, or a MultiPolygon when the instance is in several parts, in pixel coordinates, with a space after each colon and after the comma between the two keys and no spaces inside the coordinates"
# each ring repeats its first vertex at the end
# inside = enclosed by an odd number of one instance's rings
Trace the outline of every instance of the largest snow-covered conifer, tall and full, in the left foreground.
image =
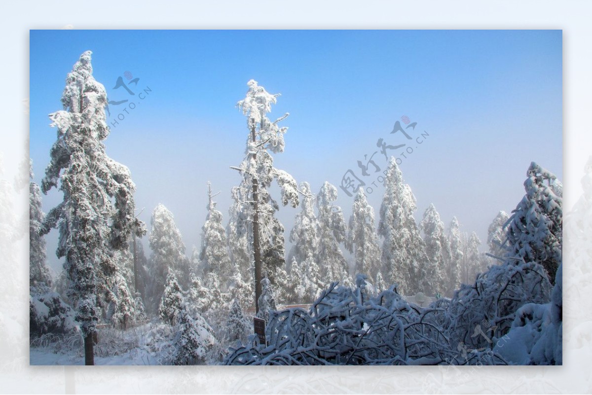
{"type": "Polygon", "coordinates": [[[127,248],[133,230],[139,237],[145,232],[143,223],[134,218],[136,186],[130,170],[105,153],[107,93],[92,76],[91,54],[83,53],[68,74],[63,110],[50,114],[57,141],[41,183],[47,193],[59,182],[64,195],[47,213],[41,234],[59,226],[56,253],[66,258],[72,280],[69,295],[82,326],[87,365],[94,364],[98,287],[117,271],[112,251],[127,248]]]}

